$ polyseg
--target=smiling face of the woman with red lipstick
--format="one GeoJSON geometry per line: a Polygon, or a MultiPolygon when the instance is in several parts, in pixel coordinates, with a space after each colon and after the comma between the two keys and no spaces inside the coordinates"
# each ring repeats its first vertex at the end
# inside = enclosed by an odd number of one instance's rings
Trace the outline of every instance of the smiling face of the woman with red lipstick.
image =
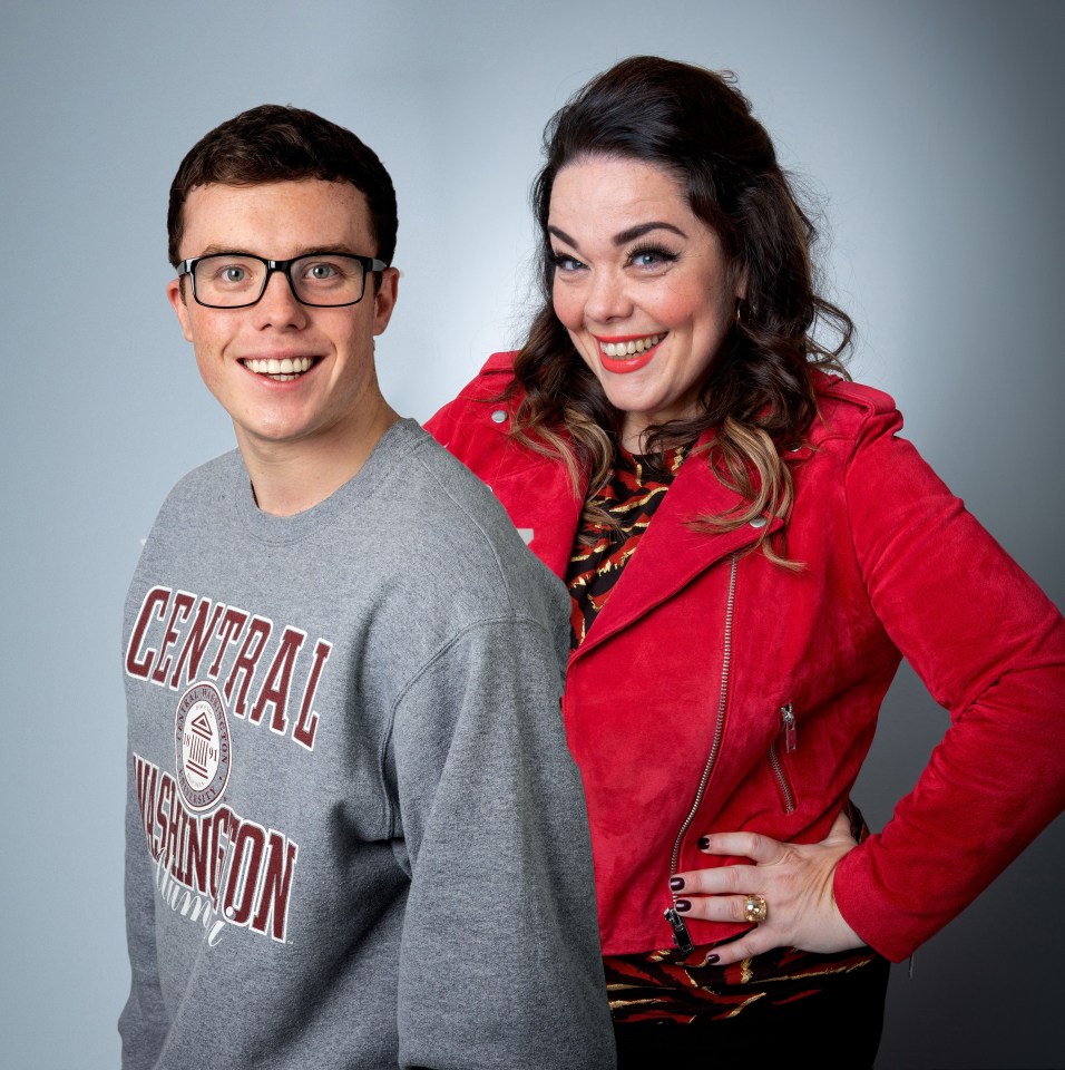
{"type": "Polygon", "coordinates": [[[624,416],[623,445],[695,414],[742,289],[677,181],[633,159],[587,157],[555,177],[548,217],[555,314],[624,416]]]}

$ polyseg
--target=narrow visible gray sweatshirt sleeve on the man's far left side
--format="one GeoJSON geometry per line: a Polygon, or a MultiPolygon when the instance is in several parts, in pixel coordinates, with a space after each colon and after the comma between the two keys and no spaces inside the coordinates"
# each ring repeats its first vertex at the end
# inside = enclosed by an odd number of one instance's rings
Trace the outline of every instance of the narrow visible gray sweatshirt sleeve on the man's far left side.
{"type": "Polygon", "coordinates": [[[129,999],[118,1019],[123,1070],[148,1070],[163,1050],[166,1011],[159,988],[155,943],[155,882],[150,853],[137,805],[133,755],[126,788],[126,940],[129,950],[129,999]]]}

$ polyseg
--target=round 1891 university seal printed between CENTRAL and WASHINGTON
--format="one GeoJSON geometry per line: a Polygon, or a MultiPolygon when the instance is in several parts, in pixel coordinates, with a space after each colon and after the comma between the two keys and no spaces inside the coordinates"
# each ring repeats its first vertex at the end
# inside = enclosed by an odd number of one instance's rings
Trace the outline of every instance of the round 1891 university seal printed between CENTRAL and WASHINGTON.
{"type": "Polygon", "coordinates": [[[194,810],[214,806],[229,780],[225,703],[213,683],[194,683],[177,704],[175,757],[182,797],[194,810]]]}

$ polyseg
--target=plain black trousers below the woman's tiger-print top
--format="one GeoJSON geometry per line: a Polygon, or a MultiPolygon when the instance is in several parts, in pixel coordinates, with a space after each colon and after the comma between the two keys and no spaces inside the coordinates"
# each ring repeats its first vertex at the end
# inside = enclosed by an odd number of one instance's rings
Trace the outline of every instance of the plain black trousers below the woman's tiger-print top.
{"type": "Polygon", "coordinates": [[[735,1018],[691,1025],[615,1024],[618,1070],[871,1068],[883,1031],[889,969],[878,956],[852,973],[825,979],[815,995],[764,1008],[754,1003],[735,1018]]]}

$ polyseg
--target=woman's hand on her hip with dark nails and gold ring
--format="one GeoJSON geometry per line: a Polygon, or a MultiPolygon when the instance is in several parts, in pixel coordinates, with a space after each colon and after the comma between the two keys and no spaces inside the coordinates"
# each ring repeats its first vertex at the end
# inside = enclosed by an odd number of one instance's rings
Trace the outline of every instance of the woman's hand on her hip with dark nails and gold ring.
{"type": "Polygon", "coordinates": [[[749,924],[748,912],[753,908],[756,916],[759,897],[764,901],[765,921],[714,949],[721,965],[773,947],[821,954],[860,947],[862,938],[843,921],[832,893],[837,864],[857,846],[842,814],[818,844],[782,844],[758,833],[714,833],[700,840],[701,850],[750,858],[754,865],[678,873],[671,882],[676,908],[682,917],[749,924]]]}

